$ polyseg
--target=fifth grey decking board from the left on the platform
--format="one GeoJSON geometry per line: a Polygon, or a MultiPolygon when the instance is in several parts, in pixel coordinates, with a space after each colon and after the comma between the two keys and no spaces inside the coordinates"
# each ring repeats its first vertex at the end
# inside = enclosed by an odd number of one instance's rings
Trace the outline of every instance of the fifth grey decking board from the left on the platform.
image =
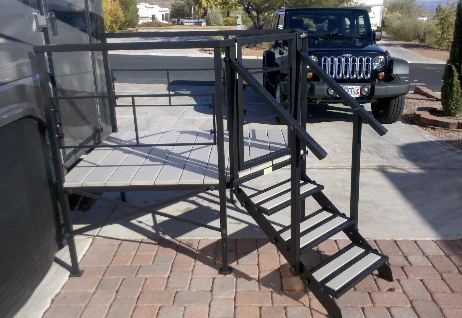
{"type": "MultiPolygon", "coordinates": [[[[193,143],[197,134],[198,132],[193,130],[182,131],[176,142],[193,143]]],[[[174,146],[154,184],[178,184],[192,148],[193,146],[174,146]]]]}

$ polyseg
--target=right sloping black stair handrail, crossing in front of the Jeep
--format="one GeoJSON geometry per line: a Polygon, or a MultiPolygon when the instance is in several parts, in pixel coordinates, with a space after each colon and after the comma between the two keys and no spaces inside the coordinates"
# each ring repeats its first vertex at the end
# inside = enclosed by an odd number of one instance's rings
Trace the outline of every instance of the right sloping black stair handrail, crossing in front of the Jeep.
{"type": "Polygon", "coordinates": [[[364,109],[353,97],[350,96],[345,90],[332,79],[317,63],[315,63],[306,52],[297,50],[297,53],[300,54],[302,61],[310,67],[310,70],[313,71],[317,76],[319,76],[322,81],[324,81],[332,90],[339,95],[343,102],[351,107],[353,110],[358,109],[359,115],[365,122],[369,124],[377,134],[383,136],[387,133],[387,128],[377,121],[371,114],[364,109]]]}

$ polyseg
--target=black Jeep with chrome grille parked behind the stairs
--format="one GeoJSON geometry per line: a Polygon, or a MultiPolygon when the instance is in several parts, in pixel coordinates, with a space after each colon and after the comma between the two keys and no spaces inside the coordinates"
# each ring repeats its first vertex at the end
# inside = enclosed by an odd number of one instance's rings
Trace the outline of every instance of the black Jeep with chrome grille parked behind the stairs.
{"type": "MultiPolygon", "coordinates": [[[[371,103],[373,116],[389,124],[400,119],[409,84],[400,74],[409,73],[407,61],[391,57],[377,46],[382,31],[372,31],[369,13],[358,8],[289,8],[274,12],[272,29],[301,29],[308,33],[308,54],[359,103],[371,103]]],[[[278,41],[263,52],[263,67],[283,67],[288,46],[278,41]]],[[[264,73],[263,85],[285,103],[284,71],[264,73]]],[[[310,103],[340,104],[335,92],[308,70],[310,103]]]]}

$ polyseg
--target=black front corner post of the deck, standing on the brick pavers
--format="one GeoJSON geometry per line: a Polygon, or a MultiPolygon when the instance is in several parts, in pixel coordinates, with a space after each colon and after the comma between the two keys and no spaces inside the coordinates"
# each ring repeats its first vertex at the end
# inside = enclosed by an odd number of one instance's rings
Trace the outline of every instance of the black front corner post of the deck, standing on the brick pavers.
{"type": "Polygon", "coordinates": [[[226,164],[225,164],[225,127],[223,123],[223,86],[221,77],[221,49],[213,50],[213,64],[215,67],[215,103],[217,112],[217,154],[218,154],[218,190],[220,200],[220,228],[221,230],[221,255],[222,266],[220,274],[231,274],[231,267],[228,266],[227,247],[227,215],[226,215],[226,164]]]}

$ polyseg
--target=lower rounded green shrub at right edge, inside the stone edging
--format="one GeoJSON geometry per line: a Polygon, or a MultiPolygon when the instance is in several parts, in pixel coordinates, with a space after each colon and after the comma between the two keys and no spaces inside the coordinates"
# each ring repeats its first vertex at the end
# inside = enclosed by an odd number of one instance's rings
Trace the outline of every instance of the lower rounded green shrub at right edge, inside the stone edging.
{"type": "Polygon", "coordinates": [[[457,116],[462,113],[462,90],[459,74],[456,67],[449,63],[444,68],[441,104],[449,116],[457,116]]]}

